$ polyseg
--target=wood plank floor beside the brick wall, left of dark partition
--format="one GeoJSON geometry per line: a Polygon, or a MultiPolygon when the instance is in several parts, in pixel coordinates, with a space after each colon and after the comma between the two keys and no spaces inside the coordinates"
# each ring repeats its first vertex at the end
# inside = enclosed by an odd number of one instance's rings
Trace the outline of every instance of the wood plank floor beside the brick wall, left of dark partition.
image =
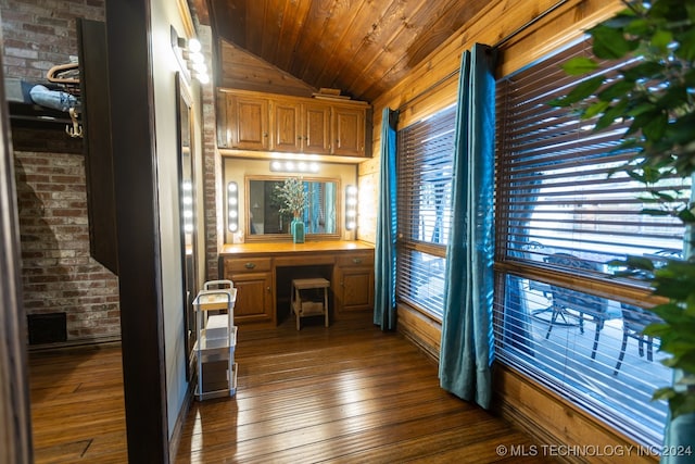
{"type": "Polygon", "coordinates": [[[121,346],[29,353],[34,462],[127,463],[121,346]]]}

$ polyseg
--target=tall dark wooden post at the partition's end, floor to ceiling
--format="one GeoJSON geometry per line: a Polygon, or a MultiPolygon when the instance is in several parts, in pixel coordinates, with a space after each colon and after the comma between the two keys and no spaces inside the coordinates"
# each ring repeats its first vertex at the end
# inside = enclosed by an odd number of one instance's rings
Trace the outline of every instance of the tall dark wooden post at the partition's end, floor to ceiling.
{"type": "Polygon", "coordinates": [[[106,42],[128,460],[166,463],[169,443],[149,4],[106,2],[106,42]]]}

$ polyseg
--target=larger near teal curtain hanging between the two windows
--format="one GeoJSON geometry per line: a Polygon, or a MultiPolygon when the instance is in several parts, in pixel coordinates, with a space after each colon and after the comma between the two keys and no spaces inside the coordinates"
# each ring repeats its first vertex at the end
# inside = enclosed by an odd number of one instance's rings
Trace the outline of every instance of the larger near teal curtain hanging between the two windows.
{"type": "Polygon", "coordinates": [[[443,389],[485,409],[494,356],[495,59],[493,48],[479,43],[462,57],[439,367],[443,389]]]}

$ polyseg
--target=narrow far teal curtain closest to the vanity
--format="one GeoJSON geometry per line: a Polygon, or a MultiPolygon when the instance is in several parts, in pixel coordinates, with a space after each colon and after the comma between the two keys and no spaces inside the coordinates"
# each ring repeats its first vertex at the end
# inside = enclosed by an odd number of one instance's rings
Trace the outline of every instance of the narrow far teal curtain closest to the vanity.
{"type": "Polygon", "coordinates": [[[395,329],[395,127],[397,118],[396,111],[383,109],[374,279],[374,323],[382,330],[395,329]]]}

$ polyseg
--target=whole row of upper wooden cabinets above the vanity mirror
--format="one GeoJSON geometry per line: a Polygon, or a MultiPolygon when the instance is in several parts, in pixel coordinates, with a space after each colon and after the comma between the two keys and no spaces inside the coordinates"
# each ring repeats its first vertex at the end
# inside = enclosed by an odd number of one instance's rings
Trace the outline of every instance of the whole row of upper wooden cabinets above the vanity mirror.
{"type": "Polygon", "coordinates": [[[369,105],[247,90],[217,96],[220,149],[366,156],[369,105]]]}

